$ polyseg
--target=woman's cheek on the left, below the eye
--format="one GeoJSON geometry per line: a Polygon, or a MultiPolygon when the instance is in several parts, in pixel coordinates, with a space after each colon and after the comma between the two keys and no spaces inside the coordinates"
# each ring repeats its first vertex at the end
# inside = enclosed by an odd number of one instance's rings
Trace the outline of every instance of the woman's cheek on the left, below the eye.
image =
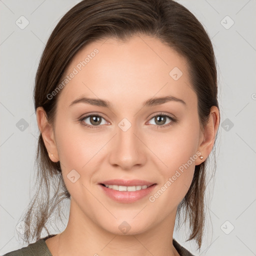
{"type": "Polygon", "coordinates": [[[63,179],[73,198],[90,200],[86,188],[91,183],[94,172],[100,169],[101,148],[109,138],[104,138],[97,131],[85,131],[79,123],[57,122],[56,144],[61,164],[63,179]],[[72,178],[74,177],[74,178],[72,178]],[[73,182],[74,181],[74,182],[73,182]]]}

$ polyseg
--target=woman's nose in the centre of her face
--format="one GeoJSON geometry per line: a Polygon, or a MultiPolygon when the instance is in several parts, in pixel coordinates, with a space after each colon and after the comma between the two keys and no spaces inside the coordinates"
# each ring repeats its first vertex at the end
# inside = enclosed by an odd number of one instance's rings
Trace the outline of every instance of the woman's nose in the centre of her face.
{"type": "Polygon", "coordinates": [[[116,135],[112,139],[109,163],[120,169],[130,170],[146,162],[146,146],[140,132],[127,120],[118,124],[116,135]]]}

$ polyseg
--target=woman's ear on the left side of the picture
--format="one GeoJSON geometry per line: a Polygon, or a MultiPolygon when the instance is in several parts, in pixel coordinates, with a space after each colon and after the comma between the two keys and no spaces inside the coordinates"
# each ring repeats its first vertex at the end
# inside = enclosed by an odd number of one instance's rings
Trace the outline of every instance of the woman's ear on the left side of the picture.
{"type": "Polygon", "coordinates": [[[36,108],[36,120],[38,128],[42,134],[44,145],[48,151],[49,158],[53,162],[59,161],[53,127],[48,123],[47,115],[41,106],[36,108]]]}

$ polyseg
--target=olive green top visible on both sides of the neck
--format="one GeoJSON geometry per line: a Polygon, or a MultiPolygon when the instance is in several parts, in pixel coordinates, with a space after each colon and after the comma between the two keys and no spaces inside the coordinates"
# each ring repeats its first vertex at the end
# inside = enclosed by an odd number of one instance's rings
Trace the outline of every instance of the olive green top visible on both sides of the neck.
{"type": "MultiPolygon", "coordinates": [[[[45,236],[36,242],[28,244],[26,247],[10,251],[3,256],[52,256],[45,243],[45,240],[54,235],[55,234],[50,234],[45,236]]],[[[187,249],[182,247],[176,240],[172,239],[172,243],[180,256],[194,256],[187,249]]]]}

